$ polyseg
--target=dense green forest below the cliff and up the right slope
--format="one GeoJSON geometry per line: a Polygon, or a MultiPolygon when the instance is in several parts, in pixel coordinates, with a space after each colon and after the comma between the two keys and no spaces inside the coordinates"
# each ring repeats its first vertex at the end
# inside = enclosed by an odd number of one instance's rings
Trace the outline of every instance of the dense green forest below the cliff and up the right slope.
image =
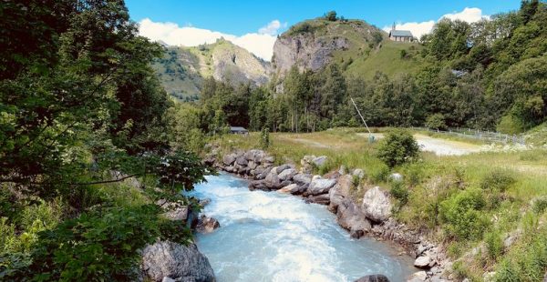
{"type": "MultiPolygon", "coordinates": [[[[339,20],[339,19],[333,19],[339,20]]],[[[202,132],[225,125],[313,132],[358,126],[353,98],[372,126],[467,126],[520,133],[547,115],[547,5],[478,23],[443,19],[421,38],[416,74],[372,80],[344,73],[347,62],[319,71],[295,67],[269,86],[232,87],[209,79],[198,103],[202,132]],[[214,122],[212,122],[214,121],[214,122]]],[[[378,48],[381,48],[378,46],[378,48]]],[[[408,52],[401,51],[401,57],[408,52]]]]}

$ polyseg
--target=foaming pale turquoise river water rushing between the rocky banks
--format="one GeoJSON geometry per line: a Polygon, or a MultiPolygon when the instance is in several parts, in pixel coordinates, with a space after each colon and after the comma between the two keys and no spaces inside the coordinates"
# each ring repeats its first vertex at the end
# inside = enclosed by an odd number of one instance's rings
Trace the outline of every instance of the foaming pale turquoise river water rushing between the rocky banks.
{"type": "Polygon", "coordinates": [[[352,239],[325,206],[296,196],[249,191],[245,180],[208,176],[193,196],[209,197],[203,213],[221,227],[197,235],[218,281],[354,281],[384,274],[405,281],[409,257],[374,239],[352,239]]]}

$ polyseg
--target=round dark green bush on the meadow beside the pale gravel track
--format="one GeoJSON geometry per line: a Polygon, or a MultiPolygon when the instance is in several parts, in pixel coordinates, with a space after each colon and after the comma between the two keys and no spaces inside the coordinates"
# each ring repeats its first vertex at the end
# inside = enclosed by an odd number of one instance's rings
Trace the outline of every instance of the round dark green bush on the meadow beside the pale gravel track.
{"type": "Polygon", "coordinates": [[[402,165],[418,156],[419,146],[408,131],[396,129],[387,134],[378,146],[377,156],[387,166],[402,165]]]}

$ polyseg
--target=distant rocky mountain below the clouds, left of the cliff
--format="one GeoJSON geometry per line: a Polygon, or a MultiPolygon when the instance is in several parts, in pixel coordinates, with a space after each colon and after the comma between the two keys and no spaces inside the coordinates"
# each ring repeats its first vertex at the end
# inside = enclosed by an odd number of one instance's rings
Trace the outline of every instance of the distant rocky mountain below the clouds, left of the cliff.
{"type": "Polygon", "coordinates": [[[181,100],[198,99],[205,77],[233,86],[247,82],[262,86],[270,76],[268,62],[224,39],[196,47],[167,46],[153,67],[166,91],[181,100]]]}

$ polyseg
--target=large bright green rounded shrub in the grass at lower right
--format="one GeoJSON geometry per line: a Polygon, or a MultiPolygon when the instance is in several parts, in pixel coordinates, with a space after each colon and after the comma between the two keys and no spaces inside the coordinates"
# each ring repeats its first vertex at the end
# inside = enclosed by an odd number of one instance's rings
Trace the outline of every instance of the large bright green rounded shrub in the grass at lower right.
{"type": "Polygon", "coordinates": [[[487,229],[489,221],[481,213],[485,206],[480,191],[472,189],[462,191],[440,203],[439,216],[446,224],[451,237],[457,239],[478,239],[487,229]]]}

